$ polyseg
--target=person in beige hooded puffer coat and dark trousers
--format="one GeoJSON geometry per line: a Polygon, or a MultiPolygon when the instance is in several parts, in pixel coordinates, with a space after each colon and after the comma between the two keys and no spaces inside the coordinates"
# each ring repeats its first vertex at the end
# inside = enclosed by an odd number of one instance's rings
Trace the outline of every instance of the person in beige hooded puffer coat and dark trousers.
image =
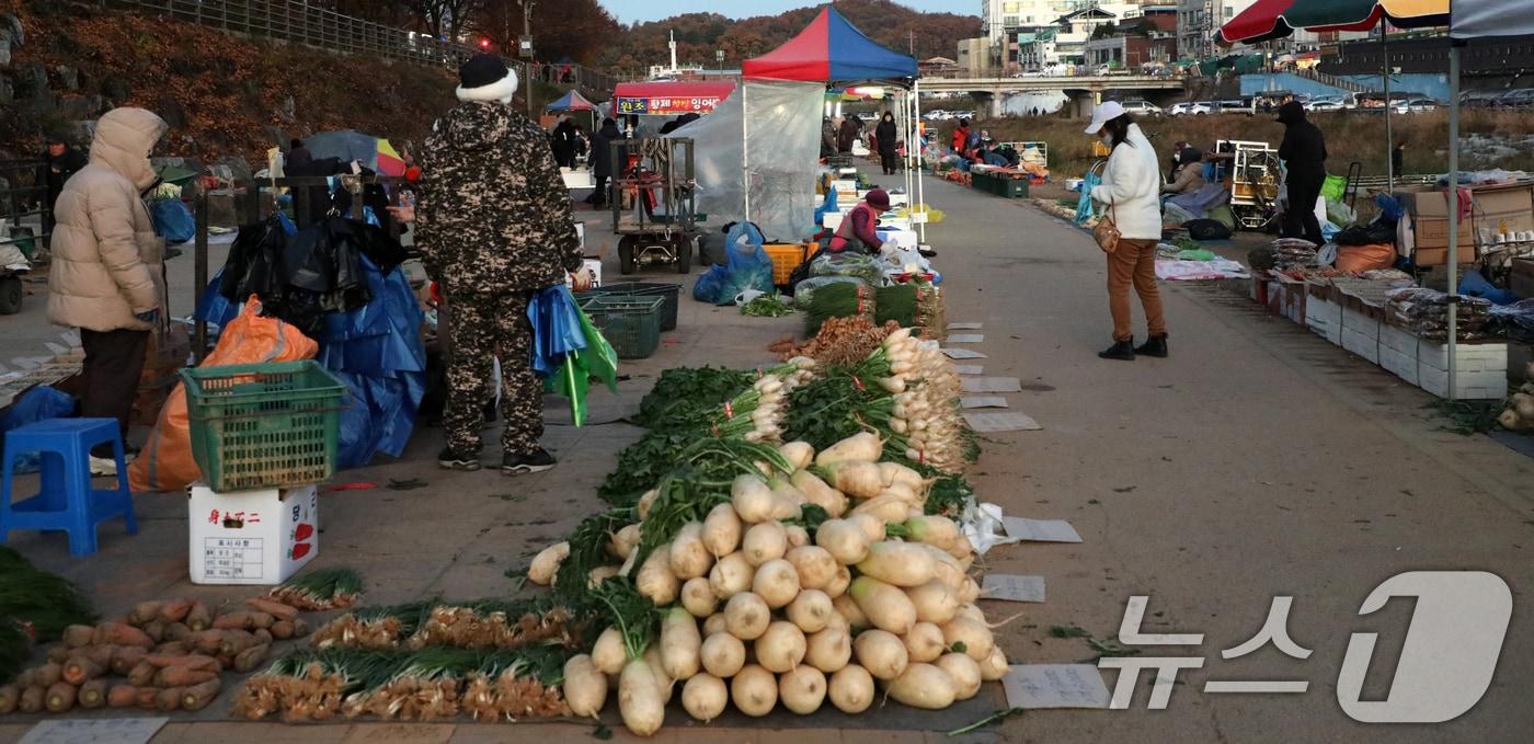
{"type": "MultiPolygon", "coordinates": [[[[64,183],[54,206],[48,319],[80,328],[80,414],[117,419],[124,434],[149,333],[161,328],[166,307],[164,239],[141,196],[156,181],[149,153],[166,129],[144,109],[103,115],[89,164],[64,183]]],[[[112,471],[110,449],[92,449],[94,472],[112,471]]]]}

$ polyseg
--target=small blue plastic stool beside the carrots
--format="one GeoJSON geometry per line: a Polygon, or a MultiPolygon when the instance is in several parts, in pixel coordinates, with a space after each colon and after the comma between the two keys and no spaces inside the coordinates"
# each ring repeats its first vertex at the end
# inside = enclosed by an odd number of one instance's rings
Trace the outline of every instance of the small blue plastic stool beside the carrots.
{"type": "Polygon", "coordinates": [[[49,419],[6,433],[0,545],[12,529],[63,529],[69,532],[71,555],[91,555],[97,551],[97,525],[120,514],[127,534],[137,534],[117,419],[49,419]],[[117,459],[117,488],[100,491],[91,486],[91,448],[107,442],[117,459]],[[40,454],[43,488],[31,499],[11,503],[11,469],[25,453],[40,454]]]}

